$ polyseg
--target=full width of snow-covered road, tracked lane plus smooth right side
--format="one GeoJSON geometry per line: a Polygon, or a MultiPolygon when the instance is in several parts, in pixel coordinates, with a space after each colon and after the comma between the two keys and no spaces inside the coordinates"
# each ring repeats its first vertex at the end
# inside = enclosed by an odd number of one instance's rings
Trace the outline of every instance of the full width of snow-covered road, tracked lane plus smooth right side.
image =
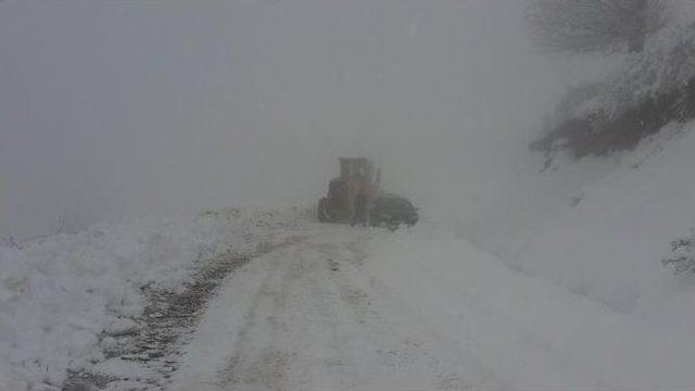
{"type": "Polygon", "coordinates": [[[692,352],[443,232],[309,225],[223,282],[167,389],[686,389],[692,352]]]}

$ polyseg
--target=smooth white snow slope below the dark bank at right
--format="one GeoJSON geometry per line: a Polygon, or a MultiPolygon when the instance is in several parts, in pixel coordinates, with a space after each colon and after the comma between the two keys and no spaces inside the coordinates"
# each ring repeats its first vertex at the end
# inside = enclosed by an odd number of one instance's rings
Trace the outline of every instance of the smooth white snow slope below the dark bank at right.
{"type": "Polygon", "coordinates": [[[518,171],[462,231],[508,265],[658,327],[695,320],[695,280],[661,260],[695,226],[695,123],[635,150],[518,171]]]}

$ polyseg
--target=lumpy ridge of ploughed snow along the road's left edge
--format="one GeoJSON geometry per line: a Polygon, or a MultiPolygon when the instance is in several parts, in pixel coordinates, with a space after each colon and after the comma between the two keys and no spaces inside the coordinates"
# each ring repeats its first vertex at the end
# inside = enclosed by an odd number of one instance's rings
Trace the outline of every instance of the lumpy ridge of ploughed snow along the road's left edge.
{"type": "Polygon", "coordinates": [[[103,330],[142,312],[141,287],[182,287],[197,261],[253,253],[305,214],[216,210],[0,247],[0,390],[59,389],[67,369],[104,358],[103,330]]]}

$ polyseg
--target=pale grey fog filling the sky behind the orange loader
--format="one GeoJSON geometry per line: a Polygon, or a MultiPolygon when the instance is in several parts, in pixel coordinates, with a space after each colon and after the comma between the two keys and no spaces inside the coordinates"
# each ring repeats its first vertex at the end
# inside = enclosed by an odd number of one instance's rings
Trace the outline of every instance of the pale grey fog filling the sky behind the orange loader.
{"type": "Polygon", "coordinates": [[[591,70],[518,0],[3,1],[0,234],[312,205],[339,156],[463,215],[591,70]]]}

